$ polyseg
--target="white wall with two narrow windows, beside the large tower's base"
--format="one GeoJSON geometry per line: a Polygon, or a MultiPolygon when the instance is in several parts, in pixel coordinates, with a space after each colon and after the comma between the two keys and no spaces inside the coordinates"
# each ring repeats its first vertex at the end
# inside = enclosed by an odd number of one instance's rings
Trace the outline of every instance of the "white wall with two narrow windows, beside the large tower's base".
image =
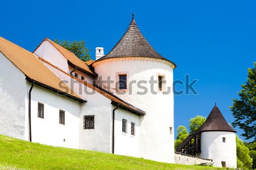
{"type": "Polygon", "coordinates": [[[124,109],[115,110],[115,154],[139,157],[139,116],[124,109]],[[127,120],[127,133],[122,131],[122,119],[127,120]],[[135,135],[131,135],[131,122],[135,135]]]}

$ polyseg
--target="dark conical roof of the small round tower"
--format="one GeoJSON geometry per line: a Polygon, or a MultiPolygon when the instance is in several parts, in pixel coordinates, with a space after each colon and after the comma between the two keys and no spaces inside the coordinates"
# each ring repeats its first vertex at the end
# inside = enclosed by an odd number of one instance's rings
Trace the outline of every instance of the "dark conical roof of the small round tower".
{"type": "Polygon", "coordinates": [[[204,124],[196,131],[232,131],[236,133],[237,131],[232,128],[226,122],[224,116],[221,114],[220,109],[215,105],[210,112],[209,116],[207,117],[207,120],[204,122],[204,124]]]}

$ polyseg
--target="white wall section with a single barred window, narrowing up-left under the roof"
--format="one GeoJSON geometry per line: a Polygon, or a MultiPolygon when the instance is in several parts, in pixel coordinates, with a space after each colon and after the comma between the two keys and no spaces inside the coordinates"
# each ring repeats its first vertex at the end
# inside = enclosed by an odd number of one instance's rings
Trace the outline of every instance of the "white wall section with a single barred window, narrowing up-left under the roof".
{"type": "MultiPolygon", "coordinates": [[[[43,62],[44,63],[44,62],[43,62]]],[[[112,104],[105,96],[84,86],[71,76],[62,73],[55,67],[44,63],[61,80],[64,80],[69,87],[78,95],[84,98],[87,103],[80,105],[79,118],[79,148],[101,152],[112,152],[112,104]],[[94,115],[94,129],[84,129],[84,116],[94,115]]]]}

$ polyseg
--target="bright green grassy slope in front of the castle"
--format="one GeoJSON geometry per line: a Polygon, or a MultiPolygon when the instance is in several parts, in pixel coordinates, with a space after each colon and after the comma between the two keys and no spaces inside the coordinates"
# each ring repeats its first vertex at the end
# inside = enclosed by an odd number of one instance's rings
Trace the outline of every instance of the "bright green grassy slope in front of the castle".
{"type": "Polygon", "coordinates": [[[217,169],[53,147],[0,135],[0,169],[217,169]]]}

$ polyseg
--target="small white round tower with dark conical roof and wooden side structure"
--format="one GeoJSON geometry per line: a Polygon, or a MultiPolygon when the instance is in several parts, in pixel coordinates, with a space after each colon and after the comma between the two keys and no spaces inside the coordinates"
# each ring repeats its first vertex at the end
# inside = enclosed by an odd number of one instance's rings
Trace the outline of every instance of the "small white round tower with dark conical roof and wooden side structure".
{"type": "Polygon", "coordinates": [[[214,167],[237,168],[236,130],[226,122],[215,105],[204,124],[189,135],[176,151],[212,159],[214,167]]]}

